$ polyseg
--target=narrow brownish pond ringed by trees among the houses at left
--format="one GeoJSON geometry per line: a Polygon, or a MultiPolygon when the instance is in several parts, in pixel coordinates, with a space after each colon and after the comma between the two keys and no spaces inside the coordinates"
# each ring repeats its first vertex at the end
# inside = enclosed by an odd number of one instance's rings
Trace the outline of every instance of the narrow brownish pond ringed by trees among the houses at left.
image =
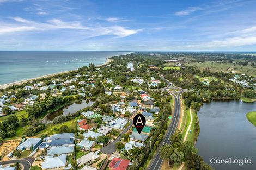
{"type": "Polygon", "coordinates": [[[66,116],[69,113],[74,114],[75,112],[83,108],[86,108],[87,106],[92,106],[94,103],[95,103],[95,99],[91,99],[91,100],[81,100],[75,103],[65,105],[62,108],[52,112],[51,114],[48,114],[46,117],[46,120],[53,121],[55,117],[66,116]]]}

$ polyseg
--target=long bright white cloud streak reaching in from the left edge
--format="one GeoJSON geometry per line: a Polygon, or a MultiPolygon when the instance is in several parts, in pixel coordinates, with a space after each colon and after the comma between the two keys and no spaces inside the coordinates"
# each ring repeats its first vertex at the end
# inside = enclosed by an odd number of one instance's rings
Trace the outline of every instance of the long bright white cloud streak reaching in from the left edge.
{"type": "Polygon", "coordinates": [[[126,37],[142,31],[142,29],[128,29],[121,26],[87,27],[83,26],[80,21],[64,22],[59,19],[48,20],[47,22],[44,23],[26,20],[21,17],[14,17],[11,19],[16,21],[16,23],[1,23],[0,35],[7,33],[12,34],[15,32],[43,32],[47,30],[70,29],[77,30],[77,32],[80,32],[82,35],[87,37],[96,37],[102,35],[115,35],[117,37],[126,37]]]}

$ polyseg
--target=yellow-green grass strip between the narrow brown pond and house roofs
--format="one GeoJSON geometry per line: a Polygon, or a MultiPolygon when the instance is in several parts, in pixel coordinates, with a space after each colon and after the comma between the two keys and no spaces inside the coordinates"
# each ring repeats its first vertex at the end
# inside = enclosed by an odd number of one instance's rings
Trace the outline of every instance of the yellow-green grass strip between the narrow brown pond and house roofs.
{"type": "Polygon", "coordinates": [[[56,134],[56,133],[58,133],[58,129],[62,125],[67,125],[70,129],[75,129],[76,128],[76,120],[73,119],[71,121],[66,121],[66,122],[59,123],[59,124],[48,124],[47,128],[40,131],[39,134],[36,135],[36,137],[41,137],[42,134],[47,134],[47,135],[56,134]],[[57,128],[57,130],[54,130],[54,128],[57,128]]]}

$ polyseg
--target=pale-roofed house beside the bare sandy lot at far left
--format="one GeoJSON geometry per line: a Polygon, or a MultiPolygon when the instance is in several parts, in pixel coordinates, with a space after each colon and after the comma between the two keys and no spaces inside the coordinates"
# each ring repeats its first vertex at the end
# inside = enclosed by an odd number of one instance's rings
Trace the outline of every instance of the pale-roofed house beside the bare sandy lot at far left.
{"type": "Polygon", "coordinates": [[[28,138],[25,142],[21,143],[16,150],[34,150],[42,143],[41,138],[28,138]]]}

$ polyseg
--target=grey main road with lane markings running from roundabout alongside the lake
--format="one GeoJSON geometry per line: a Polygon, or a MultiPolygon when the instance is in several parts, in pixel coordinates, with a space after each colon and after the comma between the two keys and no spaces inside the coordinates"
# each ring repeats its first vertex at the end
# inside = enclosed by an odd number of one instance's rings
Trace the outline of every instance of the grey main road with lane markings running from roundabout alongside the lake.
{"type": "MultiPolygon", "coordinates": [[[[164,78],[163,78],[164,79],[164,78]]],[[[166,80],[166,79],[164,79],[166,80]]],[[[168,86],[172,86],[169,81],[166,80],[166,82],[169,84],[168,86]]],[[[178,88],[180,89],[180,88],[178,88]]],[[[170,144],[170,136],[173,135],[175,133],[176,127],[179,123],[179,118],[180,118],[180,95],[183,92],[184,89],[180,89],[182,91],[180,91],[178,93],[178,95],[176,96],[174,95],[174,100],[175,100],[175,108],[174,108],[174,116],[173,116],[173,120],[170,123],[168,129],[167,129],[167,134],[164,136],[162,142],[165,142],[166,144],[170,144]]],[[[162,143],[161,143],[162,144],[162,143]]],[[[159,147],[157,149],[156,155],[153,158],[153,161],[150,163],[148,170],[159,170],[161,169],[163,160],[160,158],[160,149],[161,147],[159,147]]]]}

